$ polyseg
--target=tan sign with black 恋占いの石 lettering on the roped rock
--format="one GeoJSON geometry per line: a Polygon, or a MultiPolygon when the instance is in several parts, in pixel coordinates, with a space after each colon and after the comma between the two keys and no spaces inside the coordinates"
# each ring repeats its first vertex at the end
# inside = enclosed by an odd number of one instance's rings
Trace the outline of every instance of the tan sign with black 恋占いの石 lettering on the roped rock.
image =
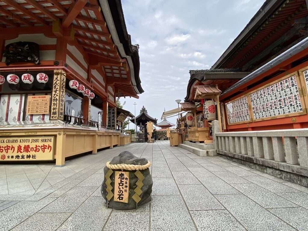
{"type": "Polygon", "coordinates": [[[115,171],[114,201],[128,203],[129,172],[115,171]]]}

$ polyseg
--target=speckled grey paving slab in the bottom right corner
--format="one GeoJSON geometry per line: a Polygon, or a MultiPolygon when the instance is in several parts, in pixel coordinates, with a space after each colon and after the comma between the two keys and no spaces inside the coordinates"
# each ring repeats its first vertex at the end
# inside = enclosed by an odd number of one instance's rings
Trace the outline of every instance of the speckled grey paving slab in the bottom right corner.
{"type": "Polygon", "coordinates": [[[277,217],[298,230],[308,230],[308,210],[304,208],[269,209],[277,217]]]}

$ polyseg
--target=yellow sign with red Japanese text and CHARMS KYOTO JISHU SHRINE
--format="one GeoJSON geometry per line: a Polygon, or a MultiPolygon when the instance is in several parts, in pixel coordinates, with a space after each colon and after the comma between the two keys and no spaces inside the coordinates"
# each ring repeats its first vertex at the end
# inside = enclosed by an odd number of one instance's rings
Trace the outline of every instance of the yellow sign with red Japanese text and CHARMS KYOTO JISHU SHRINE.
{"type": "Polygon", "coordinates": [[[53,160],[55,137],[0,137],[0,161],[53,160]]]}

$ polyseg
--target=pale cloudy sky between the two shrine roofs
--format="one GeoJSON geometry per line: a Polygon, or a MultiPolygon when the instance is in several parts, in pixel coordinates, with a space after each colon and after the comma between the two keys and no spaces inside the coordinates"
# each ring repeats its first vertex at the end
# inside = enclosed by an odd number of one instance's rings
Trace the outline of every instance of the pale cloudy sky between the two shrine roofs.
{"type": "MultiPolygon", "coordinates": [[[[122,0],[132,44],[140,45],[139,99],[121,98],[139,115],[144,105],[157,122],[184,102],[189,70],[209,69],[264,0],[122,0]]],[[[177,117],[167,120],[176,123],[177,117]]],[[[130,128],[133,128],[130,124],[130,128]]]]}

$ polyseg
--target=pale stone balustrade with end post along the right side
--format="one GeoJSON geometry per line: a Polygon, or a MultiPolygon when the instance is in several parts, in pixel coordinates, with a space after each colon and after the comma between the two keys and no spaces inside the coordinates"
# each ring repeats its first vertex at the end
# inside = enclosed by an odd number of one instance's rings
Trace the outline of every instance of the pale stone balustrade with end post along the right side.
{"type": "Polygon", "coordinates": [[[308,129],[219,132],[213,121],[217,153],[308,176],[308,129]]]}

